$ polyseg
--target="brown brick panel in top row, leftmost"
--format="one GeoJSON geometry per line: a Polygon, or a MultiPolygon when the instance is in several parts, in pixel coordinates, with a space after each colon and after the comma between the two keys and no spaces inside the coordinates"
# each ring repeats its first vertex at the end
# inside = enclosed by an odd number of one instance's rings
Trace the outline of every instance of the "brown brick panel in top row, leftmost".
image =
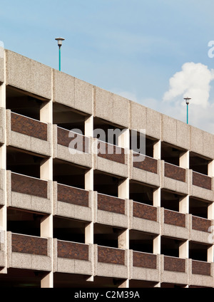
{"type": "Polygon", "coordinates": [[[11,130],[40,140],[48,140],[48,125],[16,113],[11,113],[11,130]]]}

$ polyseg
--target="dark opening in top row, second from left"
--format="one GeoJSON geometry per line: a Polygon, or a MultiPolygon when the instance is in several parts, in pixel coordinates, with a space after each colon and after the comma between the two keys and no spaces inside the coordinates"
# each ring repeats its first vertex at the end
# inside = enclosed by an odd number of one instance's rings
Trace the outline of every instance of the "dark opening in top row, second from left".
{"type": "Polygon", "coordinates": [[[85,120],[88,115],[81,113],[73,108],[58,103],[53,104],[53,124],[66,130],[74,131],[85,135],[85,120]]]}

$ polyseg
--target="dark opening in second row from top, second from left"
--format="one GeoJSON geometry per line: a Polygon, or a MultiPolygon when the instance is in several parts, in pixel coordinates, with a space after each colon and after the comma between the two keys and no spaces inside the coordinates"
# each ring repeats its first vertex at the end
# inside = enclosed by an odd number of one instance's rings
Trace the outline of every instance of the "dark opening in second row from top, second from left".
{"type": "Polygon", "coordinates": [[[73,165],[70,162],[54,159],[53,179],[59,184],[85,189],[85,174],[88,171],[84,167],[73,165]]]}

